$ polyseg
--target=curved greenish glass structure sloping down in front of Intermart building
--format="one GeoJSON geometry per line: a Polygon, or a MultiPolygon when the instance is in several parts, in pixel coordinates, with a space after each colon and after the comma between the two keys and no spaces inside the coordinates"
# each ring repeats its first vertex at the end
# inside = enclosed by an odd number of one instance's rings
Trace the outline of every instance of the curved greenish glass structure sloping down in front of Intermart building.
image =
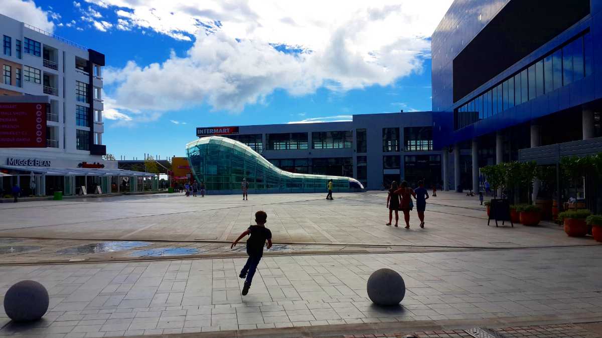
{"type": "Polygon", "coordinates": [[[276,167],[249,146],[225,137],[199,138],[186,145],[188,162],[207,190],[240,191],[243,178],[253,192],[325,192],[332,179],[334,191],[362,191],[351,177],[289,173],[276,167]]]}

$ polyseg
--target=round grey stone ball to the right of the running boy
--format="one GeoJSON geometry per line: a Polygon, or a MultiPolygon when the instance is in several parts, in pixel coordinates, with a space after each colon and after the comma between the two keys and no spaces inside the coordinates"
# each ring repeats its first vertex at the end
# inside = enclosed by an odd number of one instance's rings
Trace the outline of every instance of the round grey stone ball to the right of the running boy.
{"type": "Polygon", "coordinates": [[[402,276],[391,269],[379,269],[368,278],[368,297],[376,305],[397,305],[406,295],[402,276]]]}

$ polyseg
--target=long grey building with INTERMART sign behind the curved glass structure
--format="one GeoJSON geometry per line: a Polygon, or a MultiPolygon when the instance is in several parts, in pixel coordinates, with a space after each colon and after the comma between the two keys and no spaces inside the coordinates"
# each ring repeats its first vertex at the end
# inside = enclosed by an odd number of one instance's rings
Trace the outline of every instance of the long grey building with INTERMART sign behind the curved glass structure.
{"type": "Polygon", "coordinates": [[[196,134],[240,141],[291,173],[353,177],[367,189],[382,189],[393,180],[441,182],[436,115],[361,114],[340,122],[200,127],[196,134]]]}

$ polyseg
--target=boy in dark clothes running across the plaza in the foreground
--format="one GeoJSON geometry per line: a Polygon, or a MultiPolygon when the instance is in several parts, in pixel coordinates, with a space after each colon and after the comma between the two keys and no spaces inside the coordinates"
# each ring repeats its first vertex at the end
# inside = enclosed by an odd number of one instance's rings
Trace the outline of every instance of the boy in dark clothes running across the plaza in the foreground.
{"type": "Polygon", "coordinates": [[[265,214],[265,211],[259,210],[255,213],[255,223],[257,223],[257,225],[250,226],[249,229],[241,233],[236,241],[232,242],[230,247],[234,248],[234,245],[236,245],[244,236],[251,235],[249,239],[247,239],[247,254],[249,255],[249,258],[243,269],[240,271],[240,275],[238,275],[240,278],[246,277],[242,292],[243,296],[246,296],[247,293],[249,293],[253,275],[255,275],[259,260],[261,260],[261,256],[263,256],[265,241],[267,241],[268,249],[272,247],[272,232],[265,227],[265,222],[267,222],[267,214],[265,214]]]}

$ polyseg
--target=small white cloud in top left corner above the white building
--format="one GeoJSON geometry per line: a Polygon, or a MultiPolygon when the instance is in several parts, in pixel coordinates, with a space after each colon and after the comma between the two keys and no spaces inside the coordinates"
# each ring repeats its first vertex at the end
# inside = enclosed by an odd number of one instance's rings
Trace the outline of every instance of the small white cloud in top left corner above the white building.
{"type": "Polygon", "coordinates": [[[54,23],[48,19],[48,16],[54,13],[36,7],[31,0],[2,0],[0,13],[45,31],[54,31],[54,23]]]}

